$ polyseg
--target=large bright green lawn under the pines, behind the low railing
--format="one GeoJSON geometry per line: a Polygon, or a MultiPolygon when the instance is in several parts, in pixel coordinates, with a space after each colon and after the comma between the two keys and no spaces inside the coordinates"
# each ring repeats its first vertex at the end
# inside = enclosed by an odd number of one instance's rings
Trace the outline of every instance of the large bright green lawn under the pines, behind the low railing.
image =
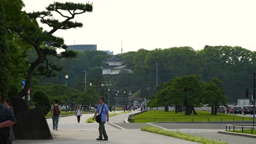
{"type": "Polygon", "coordinates": [[[251,118],[217,113],[211,115],[211,112],[197,111],[197,115],[191,114],[185,116],[185,112],[175,113],[174,111],[147,111],[132,117],[135,123],[148,122],[207,122],[207,121],[251,121],[251,118]]]}

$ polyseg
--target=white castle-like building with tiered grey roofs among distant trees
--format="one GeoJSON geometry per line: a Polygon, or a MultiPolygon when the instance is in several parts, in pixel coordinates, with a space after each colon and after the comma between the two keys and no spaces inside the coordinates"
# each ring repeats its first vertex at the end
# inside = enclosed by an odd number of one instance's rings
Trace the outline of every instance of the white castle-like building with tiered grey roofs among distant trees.
{"type": "Polygon", "coordinates": [[[119,74],[121,70],[126,70],[129,71],[129,73],[132,73],[131,68],[127,68],[127,65],[122,65],[124,60],[118,55],[114,55],[103,62],[105,64],[102,67],[102,75],[119,74]]]}

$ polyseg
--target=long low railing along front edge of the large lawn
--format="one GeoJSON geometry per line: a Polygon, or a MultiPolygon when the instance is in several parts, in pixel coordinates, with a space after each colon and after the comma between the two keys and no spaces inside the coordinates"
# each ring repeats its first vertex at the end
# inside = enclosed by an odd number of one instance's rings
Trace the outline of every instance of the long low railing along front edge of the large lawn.
{"type": "Polygon", "coordinates": [[[128,117],[128,121],[131,122],[131,123],[134,123],[136,120],[151,120],[152,122],[163,122],[163,121],[161,121],[161,119],[164,120],[164,122],[202,122],[201,120],[198,121],[198,119],[206,119],[205,122],[210,122],[211,120],[213,122],[213,120],[216,120],[216,119],[218,121],[221,121],[221,122],[223,122],[224,119],[231,119],[230,121],[235,121],[237,119],[239,119],[239,121],[240,121],[240,119],[242,119],[241,121],[252,121],[252,118],[248,119],[246,117],[225,117],[225,118],[221,118],[221,117],[219,117],[219,118],[205,118],[205,117],[191,117],[191,118],[132,118],[133,116],[139,115],[140,113],[135,113],[135,114],[130,115],[128,117]],[[166,121],[168,119],[170,119],[171,121],[166,121]],[[184,120],[187,120],[187,121],[184,121],[184,120]]]}

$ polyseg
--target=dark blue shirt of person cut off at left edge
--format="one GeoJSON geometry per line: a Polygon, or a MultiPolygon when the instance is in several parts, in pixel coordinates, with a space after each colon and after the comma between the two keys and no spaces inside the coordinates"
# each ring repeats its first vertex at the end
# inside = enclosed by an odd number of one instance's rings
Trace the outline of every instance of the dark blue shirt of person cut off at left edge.
{"type": "MultiPolygon", "coordinates": [[[[0,123],[2,122],[6,122],[6,121],[12,121],[12,122],[16,122],[15,121],[15,117],[13,115],[13,112],[11,112],[7,107],[5,107],[4,105],[0,104],[0,123]]],[[[9,132],[9,127],[5,127],[5,128],[0,128],[0,134],[4,131],[9,132]]]]}

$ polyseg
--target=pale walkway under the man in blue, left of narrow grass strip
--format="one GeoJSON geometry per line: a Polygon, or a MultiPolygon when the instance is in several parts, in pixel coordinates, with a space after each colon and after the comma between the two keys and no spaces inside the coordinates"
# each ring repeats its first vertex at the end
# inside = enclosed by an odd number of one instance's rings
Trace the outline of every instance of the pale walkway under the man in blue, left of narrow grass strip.
{"type": "MultiPolygon", "coordinates": [[[[125,113],[122,115],[110,117],[109,123],[123,123],[124,119],[127,118],[130,114],[131,113],[125,113]]],[[[85,123],[86,119],[92,117],[93,115],[94,114],[83,115],[80,119],[80,123],[77,123],[75,116],[61,117],[58,130],[51,129],[52,120],[47,119],[54,140],[15,140],[13,143],[196,143],[176,139],[174,137],[148,133],[139,129],[119,129],[112,126],[111,124],[105,124],[106,131],[109,136],[109,141],[96,141],[95,139],[98,137],[98,123],[85,123]]]]}

